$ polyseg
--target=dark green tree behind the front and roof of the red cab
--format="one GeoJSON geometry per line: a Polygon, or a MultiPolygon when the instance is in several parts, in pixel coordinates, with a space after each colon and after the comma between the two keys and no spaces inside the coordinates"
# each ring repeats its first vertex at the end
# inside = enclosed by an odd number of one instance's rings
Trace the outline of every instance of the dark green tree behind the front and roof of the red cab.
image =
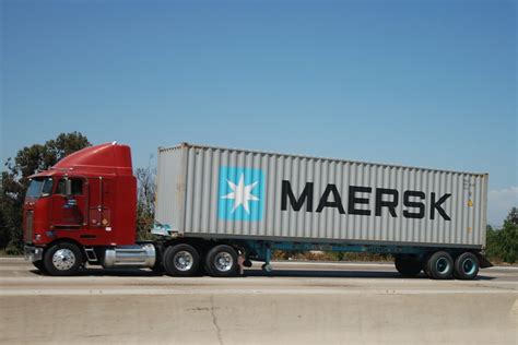
{"type": "Polygon", "coordinates": [[[28,177],[46,170],[69,154],[90,146],[80,132],[61,133],[45,144],[23,147],[5,163],[0,183],[0,248],[20,251],[23,246],[22,212],[28,177]]]}

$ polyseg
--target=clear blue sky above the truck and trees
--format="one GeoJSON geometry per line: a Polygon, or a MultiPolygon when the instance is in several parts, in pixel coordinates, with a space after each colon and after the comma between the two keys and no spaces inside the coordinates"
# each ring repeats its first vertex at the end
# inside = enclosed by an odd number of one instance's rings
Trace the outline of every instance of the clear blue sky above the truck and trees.
{"type": "Polygon", "coordinates": [[[518,206],[516,1],[1,3],[1,159],[61,132],[490,174],[518,206]]]}

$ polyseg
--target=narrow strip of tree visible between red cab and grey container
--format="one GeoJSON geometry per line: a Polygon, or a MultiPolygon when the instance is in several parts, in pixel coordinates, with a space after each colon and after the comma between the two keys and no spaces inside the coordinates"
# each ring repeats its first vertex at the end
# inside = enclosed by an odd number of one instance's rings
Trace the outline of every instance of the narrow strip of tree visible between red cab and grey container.
{"type": "Polygon", "coordinates": [[[152,239],[150,229],[155,217],[155,195],[156,195],[156,168],[152,165],[153,156],[150,157],[148,167],[138,168],[138,201],[137,201],[137,237],[139,239],[152,239]]]}

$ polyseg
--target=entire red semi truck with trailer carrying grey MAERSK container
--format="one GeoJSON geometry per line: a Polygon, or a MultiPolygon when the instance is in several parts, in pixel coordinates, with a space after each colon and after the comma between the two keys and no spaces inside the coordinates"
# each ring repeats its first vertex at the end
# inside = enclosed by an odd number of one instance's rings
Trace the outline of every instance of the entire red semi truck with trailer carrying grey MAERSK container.
{"type": "Polygon", "coordinates": [[[233,276],[250,260],[270,271],[275,249],[381,252],[404,276],[468,279],[491,265],[486,186],[485,174],[181,144],[158,151],[162,239],[138,242],[131,152],[114,142],[31,177],[25,255],[50,275],[89,263],[233,276]]]}

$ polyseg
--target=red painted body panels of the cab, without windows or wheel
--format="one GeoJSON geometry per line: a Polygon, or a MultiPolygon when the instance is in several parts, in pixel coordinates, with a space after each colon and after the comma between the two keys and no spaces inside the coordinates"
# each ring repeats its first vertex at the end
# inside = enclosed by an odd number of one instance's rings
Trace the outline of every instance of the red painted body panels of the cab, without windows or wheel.
{"type": "Polygon", "coordinates": [[[54,187],[45,198],[36,193],[26,200],[26,242],[45,245],[57,238],[85,246],[136,242],[137,179],[129,146],[108,143],[86,147],[32,178],[51,179],[54,187]],[[70,194],[66,193],[67,180],[70,194]]]}

